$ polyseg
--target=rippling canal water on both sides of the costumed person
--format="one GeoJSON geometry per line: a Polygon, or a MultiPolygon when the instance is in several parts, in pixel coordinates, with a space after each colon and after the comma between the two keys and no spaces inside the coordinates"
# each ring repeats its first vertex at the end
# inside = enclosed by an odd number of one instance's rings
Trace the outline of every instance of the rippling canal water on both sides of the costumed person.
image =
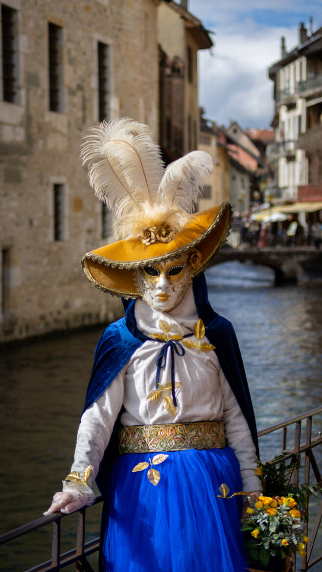
{"type": "MultiPolygon", "coordinates": [[[[321,288],[277,288],[268,268],[235,262],[210,268],[207,283],[214,309],[234,324],[258,429],[319,407],[321,288]]],[[[99,325],[0,350],[1,533],[40,518],[60,490],[102,331],[99,325]]],[[[313,435],[319,431],[322,424],[313,423],[313,435]]],[[[262,460],[272,458],[281,435],[260,446],[262,460]]],[[[321,454],[318,461],[321,467],[321,454]]],[[[99,534],[100,507],[88,512],[91,539],[99,534]]],[[[62,521],[65,550],[73,546],[70,521],[62,521]]],[[[0,570],[21,572],[49,558],[50,526],[0,547],[0,570]]]]}

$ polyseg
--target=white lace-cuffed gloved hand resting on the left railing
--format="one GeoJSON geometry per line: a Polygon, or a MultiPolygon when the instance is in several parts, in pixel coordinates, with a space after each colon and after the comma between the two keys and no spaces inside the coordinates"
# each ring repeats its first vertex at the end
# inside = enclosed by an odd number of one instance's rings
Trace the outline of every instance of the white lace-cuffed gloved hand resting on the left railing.
{"type": "Polygon", "coordinates": [[[46,517],[58,511],[64,514],[74,513],[74,511],[83,508],[83,506],[91,506],[95,498],[91,487],[63,480],[62,491],[54,494],[53,502],[44,515],[46,517]]]}

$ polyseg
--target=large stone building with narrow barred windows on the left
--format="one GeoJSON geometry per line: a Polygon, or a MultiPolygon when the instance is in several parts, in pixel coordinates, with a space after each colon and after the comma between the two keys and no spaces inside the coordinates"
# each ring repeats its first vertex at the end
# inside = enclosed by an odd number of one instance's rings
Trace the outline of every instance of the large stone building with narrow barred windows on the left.
{"type": "Polygon", "coordinates": [[[78,264],[111,240],[79,151],[104,118],[133,117],[158,138],[157,2],[6,0],[1,20],[0,341],[8,341],[120,311],[78,264]]]}

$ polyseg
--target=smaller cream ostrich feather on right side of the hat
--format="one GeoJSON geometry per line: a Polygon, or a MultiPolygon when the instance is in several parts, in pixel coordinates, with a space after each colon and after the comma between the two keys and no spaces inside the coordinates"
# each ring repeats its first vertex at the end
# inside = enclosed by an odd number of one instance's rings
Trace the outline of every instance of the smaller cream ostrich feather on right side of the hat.
{"type": "Polygon", "coordinates": [[[186,213],[193,212],[201,196],[205,179],[214,170],[213,160],[205,151],[192,151],[167,166],[159,186],[158,200],[186,213]]]}

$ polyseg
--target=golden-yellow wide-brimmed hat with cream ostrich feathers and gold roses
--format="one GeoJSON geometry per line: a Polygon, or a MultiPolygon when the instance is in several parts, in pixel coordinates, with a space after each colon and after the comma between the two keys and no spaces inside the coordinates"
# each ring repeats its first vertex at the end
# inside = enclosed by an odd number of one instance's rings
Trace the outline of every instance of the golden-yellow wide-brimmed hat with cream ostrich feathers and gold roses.
{"type": "Polygon", "coordinates": [[[208,153],[194,151],[164,170],[146,125],[129,119],[103,122],[83,145],[89,181],[116,218],[112,244],[88,252],[81,265],[97,288],[140,296],[135,270],[197,249],[194,273],[209,263],[230,228],[228,202],[191,213],[213,170],[208,153]]]}

